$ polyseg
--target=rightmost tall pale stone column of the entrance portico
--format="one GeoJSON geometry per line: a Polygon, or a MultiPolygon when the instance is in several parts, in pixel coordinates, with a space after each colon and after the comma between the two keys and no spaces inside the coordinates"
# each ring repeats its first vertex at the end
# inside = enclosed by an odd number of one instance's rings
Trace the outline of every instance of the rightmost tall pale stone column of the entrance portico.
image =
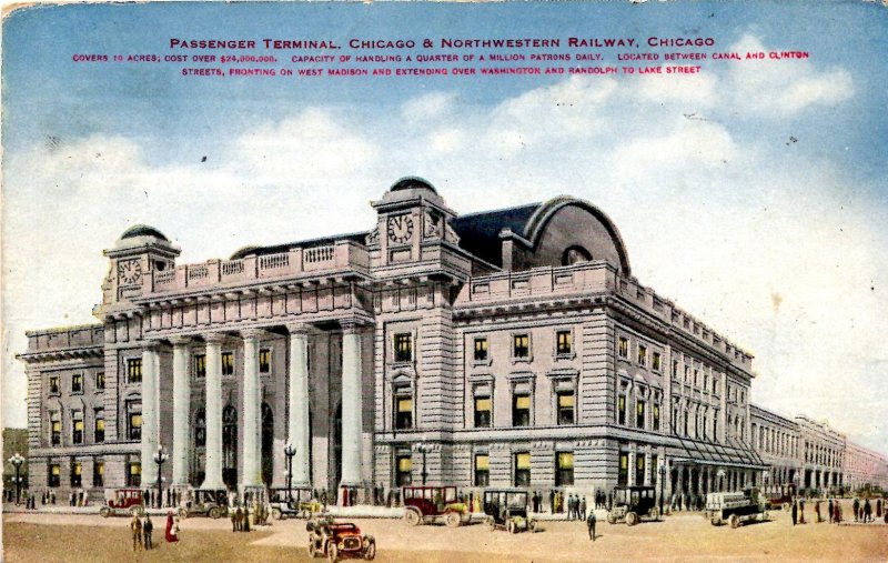
{"type": "Polygon", "coordinates": [[[357,486],[361,479],[362,391],[361,334],[354,323],[342,326],[342,482],[357,486]]]}

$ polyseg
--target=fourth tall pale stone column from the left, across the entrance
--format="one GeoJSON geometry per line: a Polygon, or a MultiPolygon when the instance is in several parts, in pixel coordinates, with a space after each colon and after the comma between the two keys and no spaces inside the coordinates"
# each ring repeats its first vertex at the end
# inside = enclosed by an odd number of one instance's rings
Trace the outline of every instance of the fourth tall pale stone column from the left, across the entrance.
{"type": "Polygon", "coordinates": [[[262,386],[259,380],[259,338],[261,330],[243,333],[243,440],[241,459],[243,476],[240,485],[262,485],[262,386]]]}

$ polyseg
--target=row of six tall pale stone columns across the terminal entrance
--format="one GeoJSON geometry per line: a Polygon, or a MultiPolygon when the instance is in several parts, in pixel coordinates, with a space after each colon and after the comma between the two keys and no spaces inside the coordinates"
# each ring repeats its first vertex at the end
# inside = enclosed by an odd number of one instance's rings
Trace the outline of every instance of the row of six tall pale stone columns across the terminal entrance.
{"type": "MultiPolygon", "coordinates": [[[[353,323],[342,323],[342,485],[357,486],[363,480],[362,468],[362,362],[361,334],[353,323]]],[[[310,486],[309,459],[309,346],[307,329],[303,324],[287,325],[290,361],[287,363],[287,439],[295,448],[293,486],[310,486]]],[[[262,486],[262,385],[259,372],[259,346],[264,331],[246,330],[243,338],[243,439],[240,440],[243,473],[239,485],[262,486]]],[[[206,454],[205,476],[201,489],[225,489],[222,479],[222,333],[203,335],[206,373],[206,454]]],[[[190,458],[191,384],[189,381],[189,344],[191,339],[176,336],[173,344],[173,445],[172,485],[186,486],[190,458]]],[[[142,352],[142,481],[158,480],[153,455],[160,440],[160,354],[159,344],[149,342],[142,352]]]]}

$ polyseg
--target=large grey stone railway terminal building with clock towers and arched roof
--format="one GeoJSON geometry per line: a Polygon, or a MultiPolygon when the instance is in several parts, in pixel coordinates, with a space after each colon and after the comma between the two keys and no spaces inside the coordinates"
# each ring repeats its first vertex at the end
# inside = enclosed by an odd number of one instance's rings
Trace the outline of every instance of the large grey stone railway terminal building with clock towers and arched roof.
{"type": "MultiPolygon", "coordinates": [[[[373,207],[367,232],[200,264],[124,232],[100,322],[29,332],[19,355],[31,490],[99,497],[160,471],[362,501],[424,482],[699,494],[840,484],[866,458],[754,406],[751,354],[642,285],[593,204],[457,215],[405,178],[373,207]]],[[[854,479],[886,486],[886,466],[872,454],[854,479]]]]}

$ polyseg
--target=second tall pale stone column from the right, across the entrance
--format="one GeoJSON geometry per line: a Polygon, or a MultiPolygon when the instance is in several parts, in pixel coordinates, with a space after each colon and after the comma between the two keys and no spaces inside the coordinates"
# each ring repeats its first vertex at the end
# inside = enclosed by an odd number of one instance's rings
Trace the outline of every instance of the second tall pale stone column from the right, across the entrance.
{"type": "MultiPolygon", "coordinates": [[[[289,324],[290,331],[290,418],[287,420],[287,443],[293,444],[296,453],[293,456],[293,486],[311,486],[309,482],[311,459],[310,440],[311,429],[309,428],[309,332],[304,324],[289,324]]],[[[344,358],[344,346],[343,346],[344,358]]],[[[359,371],[360,371],[359,358],[359,371]]],[[[343,371],[343,378],[345,373],[343,371]]],[[[360,380],[359,380],[360,381],[360,380]]],[[[343,401],[344,401],[343,381],[343,401]]],[[[345,431],[345,403],[343,402],[343,433],[345,431]]],[[[343,435],[343,468],[344,452],[346,448],[345,436],[343,435]]],[[[343,473],[343,476],[345,473],[343,473]]]]}

